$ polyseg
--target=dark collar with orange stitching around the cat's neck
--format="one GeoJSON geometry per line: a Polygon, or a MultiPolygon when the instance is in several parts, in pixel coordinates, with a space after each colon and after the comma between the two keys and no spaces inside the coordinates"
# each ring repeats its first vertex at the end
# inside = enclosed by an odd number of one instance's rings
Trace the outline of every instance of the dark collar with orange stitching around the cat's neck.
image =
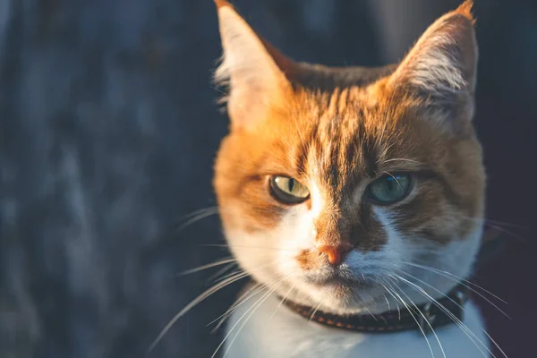
{"type": "Polygon", "coordinates": [[[286,306],[304,318],[333,328],[341,328],[366,333],[392,333],[404,330],[421,330],[423,334],[432,329],[455,323],[455,317],[463,320],[464,305],[467,300],[467,286],[458,285],[436,303],[422,304],[409,311],[388,311],[372,316],[369,313],[339,316],[316,311],[312,307],[286,301],[286,306]],[[419,310],[419,311],[416,311],[419,310]]]}

